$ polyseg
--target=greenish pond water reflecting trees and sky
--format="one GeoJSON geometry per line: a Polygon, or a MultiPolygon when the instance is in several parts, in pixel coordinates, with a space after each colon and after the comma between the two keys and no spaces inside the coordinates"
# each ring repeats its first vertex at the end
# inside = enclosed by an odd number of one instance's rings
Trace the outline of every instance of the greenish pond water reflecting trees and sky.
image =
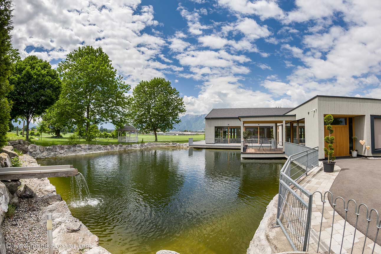
{"type": "Polygon", "coordinates": [[[154,254],[160,249],[245,254],[278,192],[284,162],[241,162],[237,150],[193,148],[38,160],[42,166],[73,164],[84,175],[90,204],[80,203],[71,177],[50,182],[74,217],[113,254],[154,254]]]}

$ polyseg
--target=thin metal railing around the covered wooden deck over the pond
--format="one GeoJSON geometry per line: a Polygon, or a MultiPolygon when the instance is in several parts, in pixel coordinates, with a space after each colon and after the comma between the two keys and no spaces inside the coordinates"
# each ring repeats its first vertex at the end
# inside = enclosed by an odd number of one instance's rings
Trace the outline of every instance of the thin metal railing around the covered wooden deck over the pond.
{"type": "Polygon", "coordinates": [[[283,153],[283,141],[275,139],[245,139],[241,142],[242,153],[283,153]]]}

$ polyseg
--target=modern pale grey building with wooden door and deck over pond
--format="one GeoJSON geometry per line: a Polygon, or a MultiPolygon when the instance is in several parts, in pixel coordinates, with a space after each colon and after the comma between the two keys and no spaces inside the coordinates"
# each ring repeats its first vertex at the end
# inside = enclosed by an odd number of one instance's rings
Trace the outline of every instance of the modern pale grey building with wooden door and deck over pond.
{"type": "Polygon", "coordinates": [[[288,142],[318,147],[319,159],[323,159],[327,114],[334,117],[336,157],[349,156],[351,150],[381,156],[381,99],[326,95],[317,95],[296,108],[212,109],[205,117],[205,141],[190,146],[239,148],[241,158],[273,158],[285,156],[288,142]]]}

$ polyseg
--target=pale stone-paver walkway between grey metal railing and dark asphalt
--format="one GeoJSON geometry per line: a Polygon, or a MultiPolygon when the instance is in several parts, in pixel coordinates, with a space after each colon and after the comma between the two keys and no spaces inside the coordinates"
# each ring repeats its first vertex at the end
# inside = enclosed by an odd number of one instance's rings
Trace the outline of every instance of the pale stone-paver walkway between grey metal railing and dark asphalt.
{"type": "MultiPolygon", "coordinates": [[[[309,172],[309,175],[301,181],[301,185],[309,190],[311,193],[314,191],[320,191],[324,194],[325,191],[330,190],[335,178],[339,175],[340,167],[335,166],[333,173],[325,173],[322,167],[309,172]]],[[[352,185],[351,185],[352,186],[352,185]]],[[[349,188],[347,186],[346,188],[349,188]]],[[[343,189],[345,191],[344,186],[343,189]]],[[[338,202],[339,204],[339,202],[338,202]]],[[[323,206],[320,194],[316,193],[313,198],[312,203],[312,216],[311,216],[311,231],[309,240],[309,251],[317,252],[317,242],[319,239],[320,224],[322,225],[321,235],[320,235],[320,245],[319,253],[362,253],[362,248],[364,246],[365,235],[359,230],[346,223],[343,217],[341,217],[337,212],[333,210],[328,202],[323,206]],[[323,212],[324,207],[324,212],[323,212]],[[323,216],[322,216],[323,213],[323,216]],[[320,223],[322,221],[322,223],[320,223]],[[333,227],[332,227],[333,225],[333,227]],[[344,231],[345,225],[345,231],[344,231]],[[333,229],[332,229],[333,228],[333,229]],[[344,238],[343,238],[344,233],[344,238]],[[332,239],[331,239],[332,234],[332,239]],[[331,251],[329,250],[331,241],[331,251]],[[354,241],[354,248],[352,251],[352,243],[354,241]],[[343,247],[341,248],[341,243],[343,242],[343,247]]],[[[381,234],[381,232],[380,232],[381,234]]],[[[364,254],[371,254],[374,243],[371,239],[367,238],[365,242],[364,254]]],[[[375,254],[381,254],[381,246],[375,245],[375,254]]]]}

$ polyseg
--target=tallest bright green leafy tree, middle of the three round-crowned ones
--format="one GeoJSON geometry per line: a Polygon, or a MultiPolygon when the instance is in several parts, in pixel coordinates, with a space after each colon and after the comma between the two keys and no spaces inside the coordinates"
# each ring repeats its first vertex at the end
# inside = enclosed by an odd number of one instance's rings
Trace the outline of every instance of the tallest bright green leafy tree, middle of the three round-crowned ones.
{"type": "Polygon", "coordinates": [[[71,124],[89,132],[86,135],[81,130],[88,141],[94,137],[91,125],[120,125],[124,121],[130,86],[117,76],[101,47],[79,47],[58,64],[57,70],[63,83],[60,101],[70,111],[71,124]]]}

